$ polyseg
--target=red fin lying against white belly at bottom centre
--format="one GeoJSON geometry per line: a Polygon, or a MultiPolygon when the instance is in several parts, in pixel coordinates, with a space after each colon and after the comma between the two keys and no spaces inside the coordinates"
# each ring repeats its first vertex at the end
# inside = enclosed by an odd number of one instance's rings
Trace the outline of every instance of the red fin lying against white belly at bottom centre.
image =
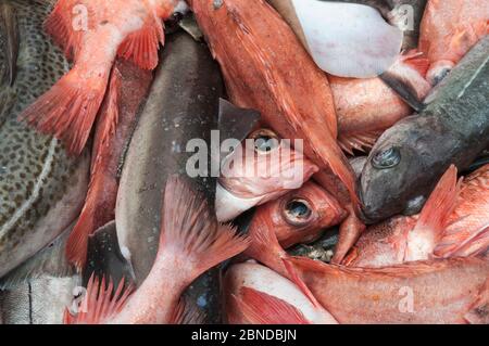
{"type": "Polygon", "coordinates": [[[237,308],[252,324],[311,324],[304,315],[289,303],[251,287],[241,287],[235,296],[237,308]]]}

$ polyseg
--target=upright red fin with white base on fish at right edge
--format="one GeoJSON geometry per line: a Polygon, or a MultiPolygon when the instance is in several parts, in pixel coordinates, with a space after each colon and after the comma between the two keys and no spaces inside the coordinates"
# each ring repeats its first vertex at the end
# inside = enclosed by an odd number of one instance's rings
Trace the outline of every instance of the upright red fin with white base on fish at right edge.
{"type": "Polygon", "coordinates": [[[427,259],[441,241],[461,190],[462,179],[457,181],[456,174],[456,167],[451,165],[423,207],[414,229],[408,233],[405,260],[427,259]]]}

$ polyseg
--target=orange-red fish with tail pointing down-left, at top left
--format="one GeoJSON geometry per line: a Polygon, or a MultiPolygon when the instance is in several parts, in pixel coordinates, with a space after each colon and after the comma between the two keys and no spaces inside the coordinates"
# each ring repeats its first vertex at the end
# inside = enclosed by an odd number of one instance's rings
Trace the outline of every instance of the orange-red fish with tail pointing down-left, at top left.
{"type": "Polygon", "coordinates": [[[115,59],[154,69],[164,43],[162,21],[185,9],[180,0],[59,0],[46,30],[74,65],[18,118],[55,136],[70,154],[79,155],[108,91],[115,59]]]}

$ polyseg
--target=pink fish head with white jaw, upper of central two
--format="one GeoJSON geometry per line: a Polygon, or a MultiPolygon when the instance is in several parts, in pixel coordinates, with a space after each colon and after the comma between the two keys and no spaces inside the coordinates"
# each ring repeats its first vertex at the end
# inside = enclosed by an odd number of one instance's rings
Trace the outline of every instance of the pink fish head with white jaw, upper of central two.
{"type": "Polygon", "coordinates": [[[227,222],[254,206],[279,198],[318,170],[277,133],[258,129],[223,161],[215,197],[217,220],[227,222]]]}

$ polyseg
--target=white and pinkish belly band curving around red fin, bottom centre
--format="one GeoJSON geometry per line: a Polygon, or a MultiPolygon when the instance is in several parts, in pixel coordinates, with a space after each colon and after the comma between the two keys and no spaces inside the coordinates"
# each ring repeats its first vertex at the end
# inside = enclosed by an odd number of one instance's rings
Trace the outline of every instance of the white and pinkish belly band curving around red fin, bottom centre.
{"type": "Polygon", "coordinates": [[[292,305],[315,324],[337,324],[335,318],[324,308],[314,306],[309,298],[288,279],[253,261],[234,265],[224,277],[223,291],[228,322],[250,323],[238,308],[233,296],[240,296],[242,287],[266,293],[292,305]],[[230,320],[230,321],[229,321],[230,320]]]}

